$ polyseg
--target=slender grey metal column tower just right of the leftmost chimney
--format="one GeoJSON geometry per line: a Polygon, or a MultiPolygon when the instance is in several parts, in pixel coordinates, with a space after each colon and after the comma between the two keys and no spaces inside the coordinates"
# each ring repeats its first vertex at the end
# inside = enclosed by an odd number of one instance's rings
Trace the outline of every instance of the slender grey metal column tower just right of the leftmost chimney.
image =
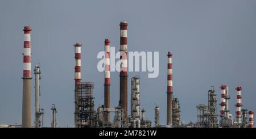
{"type": "MultiPolygon", "coordinates": [[[[44,114],[43,109],[40,109],[39,97],[41,95],[40,92],[40,79],[41,79],[41,70],[40,66],[36,65],[34,69],[35,74],[35,128],[39,128],[42,126],[42,120],[40,120],[41,116],[44,114]]],[[[42,116],[43,119],[43,116],[42,116]]]]}

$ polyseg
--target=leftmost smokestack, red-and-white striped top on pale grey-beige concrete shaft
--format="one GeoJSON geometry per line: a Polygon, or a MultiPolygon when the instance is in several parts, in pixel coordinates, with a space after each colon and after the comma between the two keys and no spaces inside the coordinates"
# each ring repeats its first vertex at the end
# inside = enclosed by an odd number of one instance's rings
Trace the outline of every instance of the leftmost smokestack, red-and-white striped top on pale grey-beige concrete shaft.
{"type": "Polygon", "coordinates": [[[30,49],[30,27],[24,27],[24,49],[23,49],[23,95],[22,95],[22,127],[30,128],[31,113],[31,49],[30,49]]]}

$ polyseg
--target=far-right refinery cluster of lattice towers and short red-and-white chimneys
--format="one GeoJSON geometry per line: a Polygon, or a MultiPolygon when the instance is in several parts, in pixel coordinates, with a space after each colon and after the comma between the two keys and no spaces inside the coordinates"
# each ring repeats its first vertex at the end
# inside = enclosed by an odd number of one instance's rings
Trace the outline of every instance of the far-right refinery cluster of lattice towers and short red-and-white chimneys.
{"type": "MultiPolygon", "coordinates": [[[[242,87],[236,87],[237,90],[237,103],[236,103],[236,119],[233,119],[232,114],[229,112],[229,104],[228,100],[230,99],[229,96],[229,89],[226,85],[221,85],[221,110],[220,110],[220,123],[218,123],[218,115],[217,115],[217,99],[216,99],[216,92],[214,87],[212,90],[208,91],[208,106],[205,104],[200,104],[196,106],[197,108],[197,123],[195,127],[202,127],[202,128],[247,128],[250,127],[250,112],[249,112],[249,122],[247,121],[247,109],[241,109],[241,90],[242,87]],[[242,117],[241,117],[242,111],[242,117]],[[249,125],[248,125],[249,123],[249,125]]],[[[253,113],[251,113],[253,116],[253,113]]],[[[253,122],[252,122],[253,123],[253,122]]],[[[253,124],[251,124],[253,126],[253,124]]]]}

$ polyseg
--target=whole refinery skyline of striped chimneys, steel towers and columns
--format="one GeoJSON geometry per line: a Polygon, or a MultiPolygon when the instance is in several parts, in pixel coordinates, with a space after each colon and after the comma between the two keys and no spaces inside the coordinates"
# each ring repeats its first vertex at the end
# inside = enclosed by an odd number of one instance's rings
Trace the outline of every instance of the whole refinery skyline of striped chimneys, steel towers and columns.
{"type": "MultiPolygon", "coordinates": [[[[81,44],[75,47],[75,112],[74,121],[77,128],[103,127],[103,128],[150,128],[151,121],[146,120],[146,111],[141,109],[141,79],[139,75],[131,78],[130,115],[127,113],[127,22],[120,22],[120,71],[119,71],[119,102],[118,106],[110,107],[110,40],[105,39],[104,62],[104,104],[94,110],[94,82],[81,82],[81,44]],[[114,113],[114,119],[110,118],[110,112],[114,113]]],[[[31,96],[31,28],[26,26],[24,31],[23,46],[23,96],[22,96],[22,127],[32,127],[32,96],[31,96]]],[[[172,88],[172,53],[167,53],[167,123],[160,125],[160,107],[155,104],[155,127],[202,127],[202,128],[252,128],[254,125],[253,111],[242,108],[241,86],[237,86],[236,119],[229,110],[229,87],[220,86],[221,103],[220,119],[217,113],[217,93],[212,86],[208,90],[208,105],[199,104],[197,108],[197,121],[185,125],[180,119],[180,102],[174,98],[172,88]],[[242,113],[242,116],[241,116],[242,113]],[[249,121],[248,115],[249,114],[249,121]]],[[[43,127],[44,111],[40,108],[40,66],[36,65],[35,74],[35,127],[43,127]],[[42,119],[42,120],[41,120],[42,119]]],[[[103,81],[103,79],[102,79],[103,81]]],[[[56,107],[52,104],[51,127],[56,128],[56,107]]],[[[19,127],[19,125],[5,124],[0,127],[19,127]]]]}

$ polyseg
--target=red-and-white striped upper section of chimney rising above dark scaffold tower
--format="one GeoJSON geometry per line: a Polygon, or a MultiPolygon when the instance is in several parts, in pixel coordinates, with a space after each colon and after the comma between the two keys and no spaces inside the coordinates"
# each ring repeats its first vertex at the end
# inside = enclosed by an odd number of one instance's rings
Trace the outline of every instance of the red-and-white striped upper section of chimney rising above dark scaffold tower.
{"type": "Polygon", "coordinates": [[[75,85],[81,81],[81,44],[76,43],[75,47],[75,85]]]}

